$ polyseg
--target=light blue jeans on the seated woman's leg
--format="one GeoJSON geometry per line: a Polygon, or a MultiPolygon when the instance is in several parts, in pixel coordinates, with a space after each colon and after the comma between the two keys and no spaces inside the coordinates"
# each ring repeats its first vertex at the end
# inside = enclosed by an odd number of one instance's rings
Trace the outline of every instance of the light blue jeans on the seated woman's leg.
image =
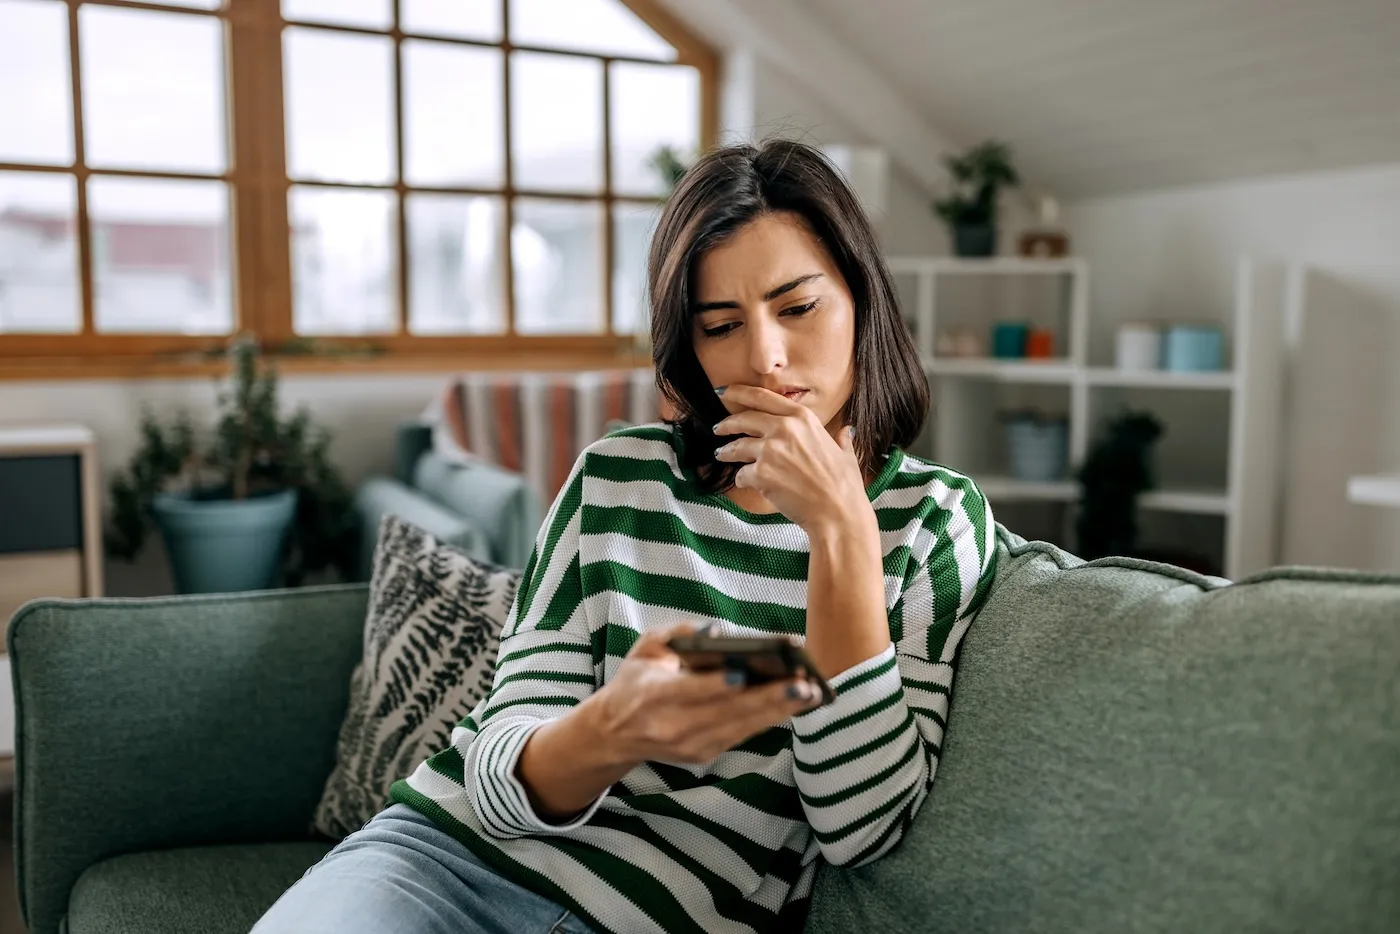
{"type": "Polygon", "coordinates": [[[311,867],[253,934],[594,934],[395,804],[311,867]]]}

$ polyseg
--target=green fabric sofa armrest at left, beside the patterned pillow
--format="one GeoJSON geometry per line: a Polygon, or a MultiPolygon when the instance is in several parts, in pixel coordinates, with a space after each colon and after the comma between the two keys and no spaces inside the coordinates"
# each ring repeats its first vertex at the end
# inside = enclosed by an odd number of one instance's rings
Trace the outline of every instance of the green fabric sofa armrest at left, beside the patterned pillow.
{"type": "Polygon", "coordinates": [[[36,601],[10,625],[15,865],[32,934],[150,849],[305,840],[368,588],[36,601]]]}

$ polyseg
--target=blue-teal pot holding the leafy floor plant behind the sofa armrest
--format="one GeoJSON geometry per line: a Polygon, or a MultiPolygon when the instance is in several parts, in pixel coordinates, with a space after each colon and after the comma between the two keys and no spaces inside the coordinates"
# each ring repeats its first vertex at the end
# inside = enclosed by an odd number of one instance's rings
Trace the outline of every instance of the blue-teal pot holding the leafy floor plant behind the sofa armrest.
{"type": "Polygon", "coordinates": [[[287,532],[297,515],[297,492],[246,500],[161,493],[151,511],[165,539],[178,592],[269,590],[277,585],[287,532]]]}

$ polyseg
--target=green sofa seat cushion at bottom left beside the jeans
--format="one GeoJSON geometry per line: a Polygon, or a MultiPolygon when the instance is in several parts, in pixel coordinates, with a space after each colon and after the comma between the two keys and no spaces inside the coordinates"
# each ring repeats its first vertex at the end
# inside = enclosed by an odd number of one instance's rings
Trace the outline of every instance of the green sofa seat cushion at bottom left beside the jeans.
{"type": "Polygon", "coordinates": [[[67,934],[248,934],[329,850],[328,843],[259,843],[104,860],[73,886],[67,934]]]}

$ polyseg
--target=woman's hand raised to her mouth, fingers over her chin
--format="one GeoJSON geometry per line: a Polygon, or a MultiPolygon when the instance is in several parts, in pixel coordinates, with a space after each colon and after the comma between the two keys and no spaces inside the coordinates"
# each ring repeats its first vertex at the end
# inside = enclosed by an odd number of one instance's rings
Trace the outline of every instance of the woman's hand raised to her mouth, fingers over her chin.
{"type": "Polygon", "coordinates": [[[836,441],[815,412],[759,386],[731,385],[721,402],[731,414],[714,433],[746,435],[715,451],[743,465],[736,487],[757,490],[809,535],[872,514],[850,428],[836,441]]]}

